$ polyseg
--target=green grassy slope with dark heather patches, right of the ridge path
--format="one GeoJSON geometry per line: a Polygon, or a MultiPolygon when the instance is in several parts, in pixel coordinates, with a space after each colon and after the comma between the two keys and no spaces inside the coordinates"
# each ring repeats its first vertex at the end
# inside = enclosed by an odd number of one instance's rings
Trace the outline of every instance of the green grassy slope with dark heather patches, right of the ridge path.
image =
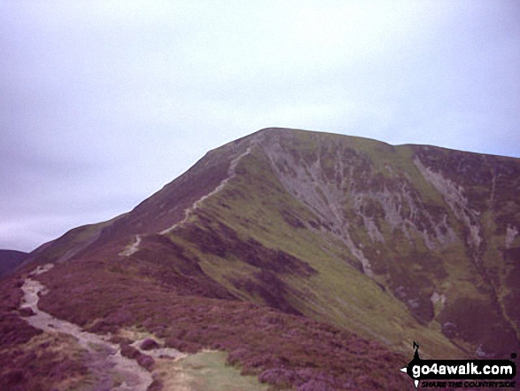
{"type": "Polygon", "coordinates": [[[206,274],[244,300],[332,322],[400,351],[409,351],[418,339],[426,355],[462,355],[439,324],[417,324],[384,285],[361,273],[330,232],[307,229],[319,218],[284,192],[260,159],[255,153],[244,158],[236,179],[169,238],[189,248],[206,274]]]}

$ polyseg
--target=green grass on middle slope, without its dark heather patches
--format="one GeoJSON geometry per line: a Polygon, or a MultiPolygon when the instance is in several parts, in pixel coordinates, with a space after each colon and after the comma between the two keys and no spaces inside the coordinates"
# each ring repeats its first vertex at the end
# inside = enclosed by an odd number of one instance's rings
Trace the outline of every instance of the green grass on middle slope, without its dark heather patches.
{"type": "MultiPolygon", "coordinates": [[[[203,209],[215,221],[227,224],[244,238],[282,249],[318,271],[310,278],[283,277],[285,283],[301,293],[286,298],[296,309],[365,337],[376,338],[401,352],[409,353],[412,341],[420,340],[425,356],[462,356],[439,332],[439,325],[418,325],[403,303],[353,268],[349,263],[350,253],[337,239],[321,231],[291,226],[294,218],[302,223],[315,221],[316,216],[283,191],[261,155],[252,153],[244,157],[237,170],[240,175],[222,192],[206,199],[203,209]],[[288,222],[281,209],[290,211],[293,219],[288,222]]],[[[196,220],[194,216],[193,222],[196,220]]],[[[230,277],[237,272],[251,275],[251,267],[240,260],[229,264],[229,260],[197,255],[206,273],[231,291],[236,288],[229,281],[230,277]],[[237,262],[245,266],[237,268],[237,262]]]]}

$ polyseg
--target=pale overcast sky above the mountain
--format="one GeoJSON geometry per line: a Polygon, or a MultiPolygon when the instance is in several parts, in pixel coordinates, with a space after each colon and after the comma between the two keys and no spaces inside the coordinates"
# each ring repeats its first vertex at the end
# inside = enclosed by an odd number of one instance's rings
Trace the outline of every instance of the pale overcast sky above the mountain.
{"type": "Polygon", "coordinates": [[[0,2],[0,248],[271,126],[520,157],[520,2],[0,2]]]}

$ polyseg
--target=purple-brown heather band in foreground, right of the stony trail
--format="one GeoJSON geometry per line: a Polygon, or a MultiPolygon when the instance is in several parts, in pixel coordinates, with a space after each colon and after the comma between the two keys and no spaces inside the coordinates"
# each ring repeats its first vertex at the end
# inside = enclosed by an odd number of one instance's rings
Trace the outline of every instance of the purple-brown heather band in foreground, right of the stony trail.
{"type": "MultiPolygon", "coordinates": [[[[225,350],[229,364],[276,387],[402,390],[410,384],[396,370],[407,363],[406,357],[306,317],[241,301],[178,295],[80,262],[39,278],[50,288],[40,305],[56,317],[91,332],[137,325],[166,340],[167,347],[189,353],[201,348],[225,350]]],[[[148,356],[122,346],[124,356],[137,358],[145,368],[153,366],[148,356]]]]}

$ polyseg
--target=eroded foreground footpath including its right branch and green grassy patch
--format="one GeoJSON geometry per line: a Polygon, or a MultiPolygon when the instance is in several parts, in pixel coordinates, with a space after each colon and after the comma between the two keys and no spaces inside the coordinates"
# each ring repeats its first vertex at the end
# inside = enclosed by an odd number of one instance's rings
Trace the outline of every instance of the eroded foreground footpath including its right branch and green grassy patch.
{"type": "MultiPolygon", "coordinates": [[[[195,355],[186,355],[175,348],[164,347],[164,341],[149,332],[130,327],[120,329],[117,336],[134,340],[130,347],[155,360],[152,372],[137,364],[136,359],[121,356],[120,345],[111,342],[112,335],[100,335],[84,331],[79,325],[53,317],[38,308],[40,296],[47,288],[34,277],[52,269],[54,265],[39,266],[29,273],[21,289],[24,293],[20,309],[27,315],[23,319],[29,325],[48,333],[72,336],[86,354],[83,364],[91,374],[87,385],[81,389],[93,391],[146,391],[159,379],[165,390],[175,391],[264,391],[268,385],[260,384],[256,376],[243,376],[240,370],[230,367],[227,354],[202,350],[195,355]],[[33,278],[32,278],[33,277],[33,278]],[[31,309],[31,310],[28,310],[31,309]],[[144,348],[146,341],[155,341],[153,348],[144,348]],[[152,376],[153,374],[153,376],[152,376]]],[[[149,343],[150,345],[150,343],[149,343]]],[[[153,387],[153,386],[152,386],[153,387]]]]}

